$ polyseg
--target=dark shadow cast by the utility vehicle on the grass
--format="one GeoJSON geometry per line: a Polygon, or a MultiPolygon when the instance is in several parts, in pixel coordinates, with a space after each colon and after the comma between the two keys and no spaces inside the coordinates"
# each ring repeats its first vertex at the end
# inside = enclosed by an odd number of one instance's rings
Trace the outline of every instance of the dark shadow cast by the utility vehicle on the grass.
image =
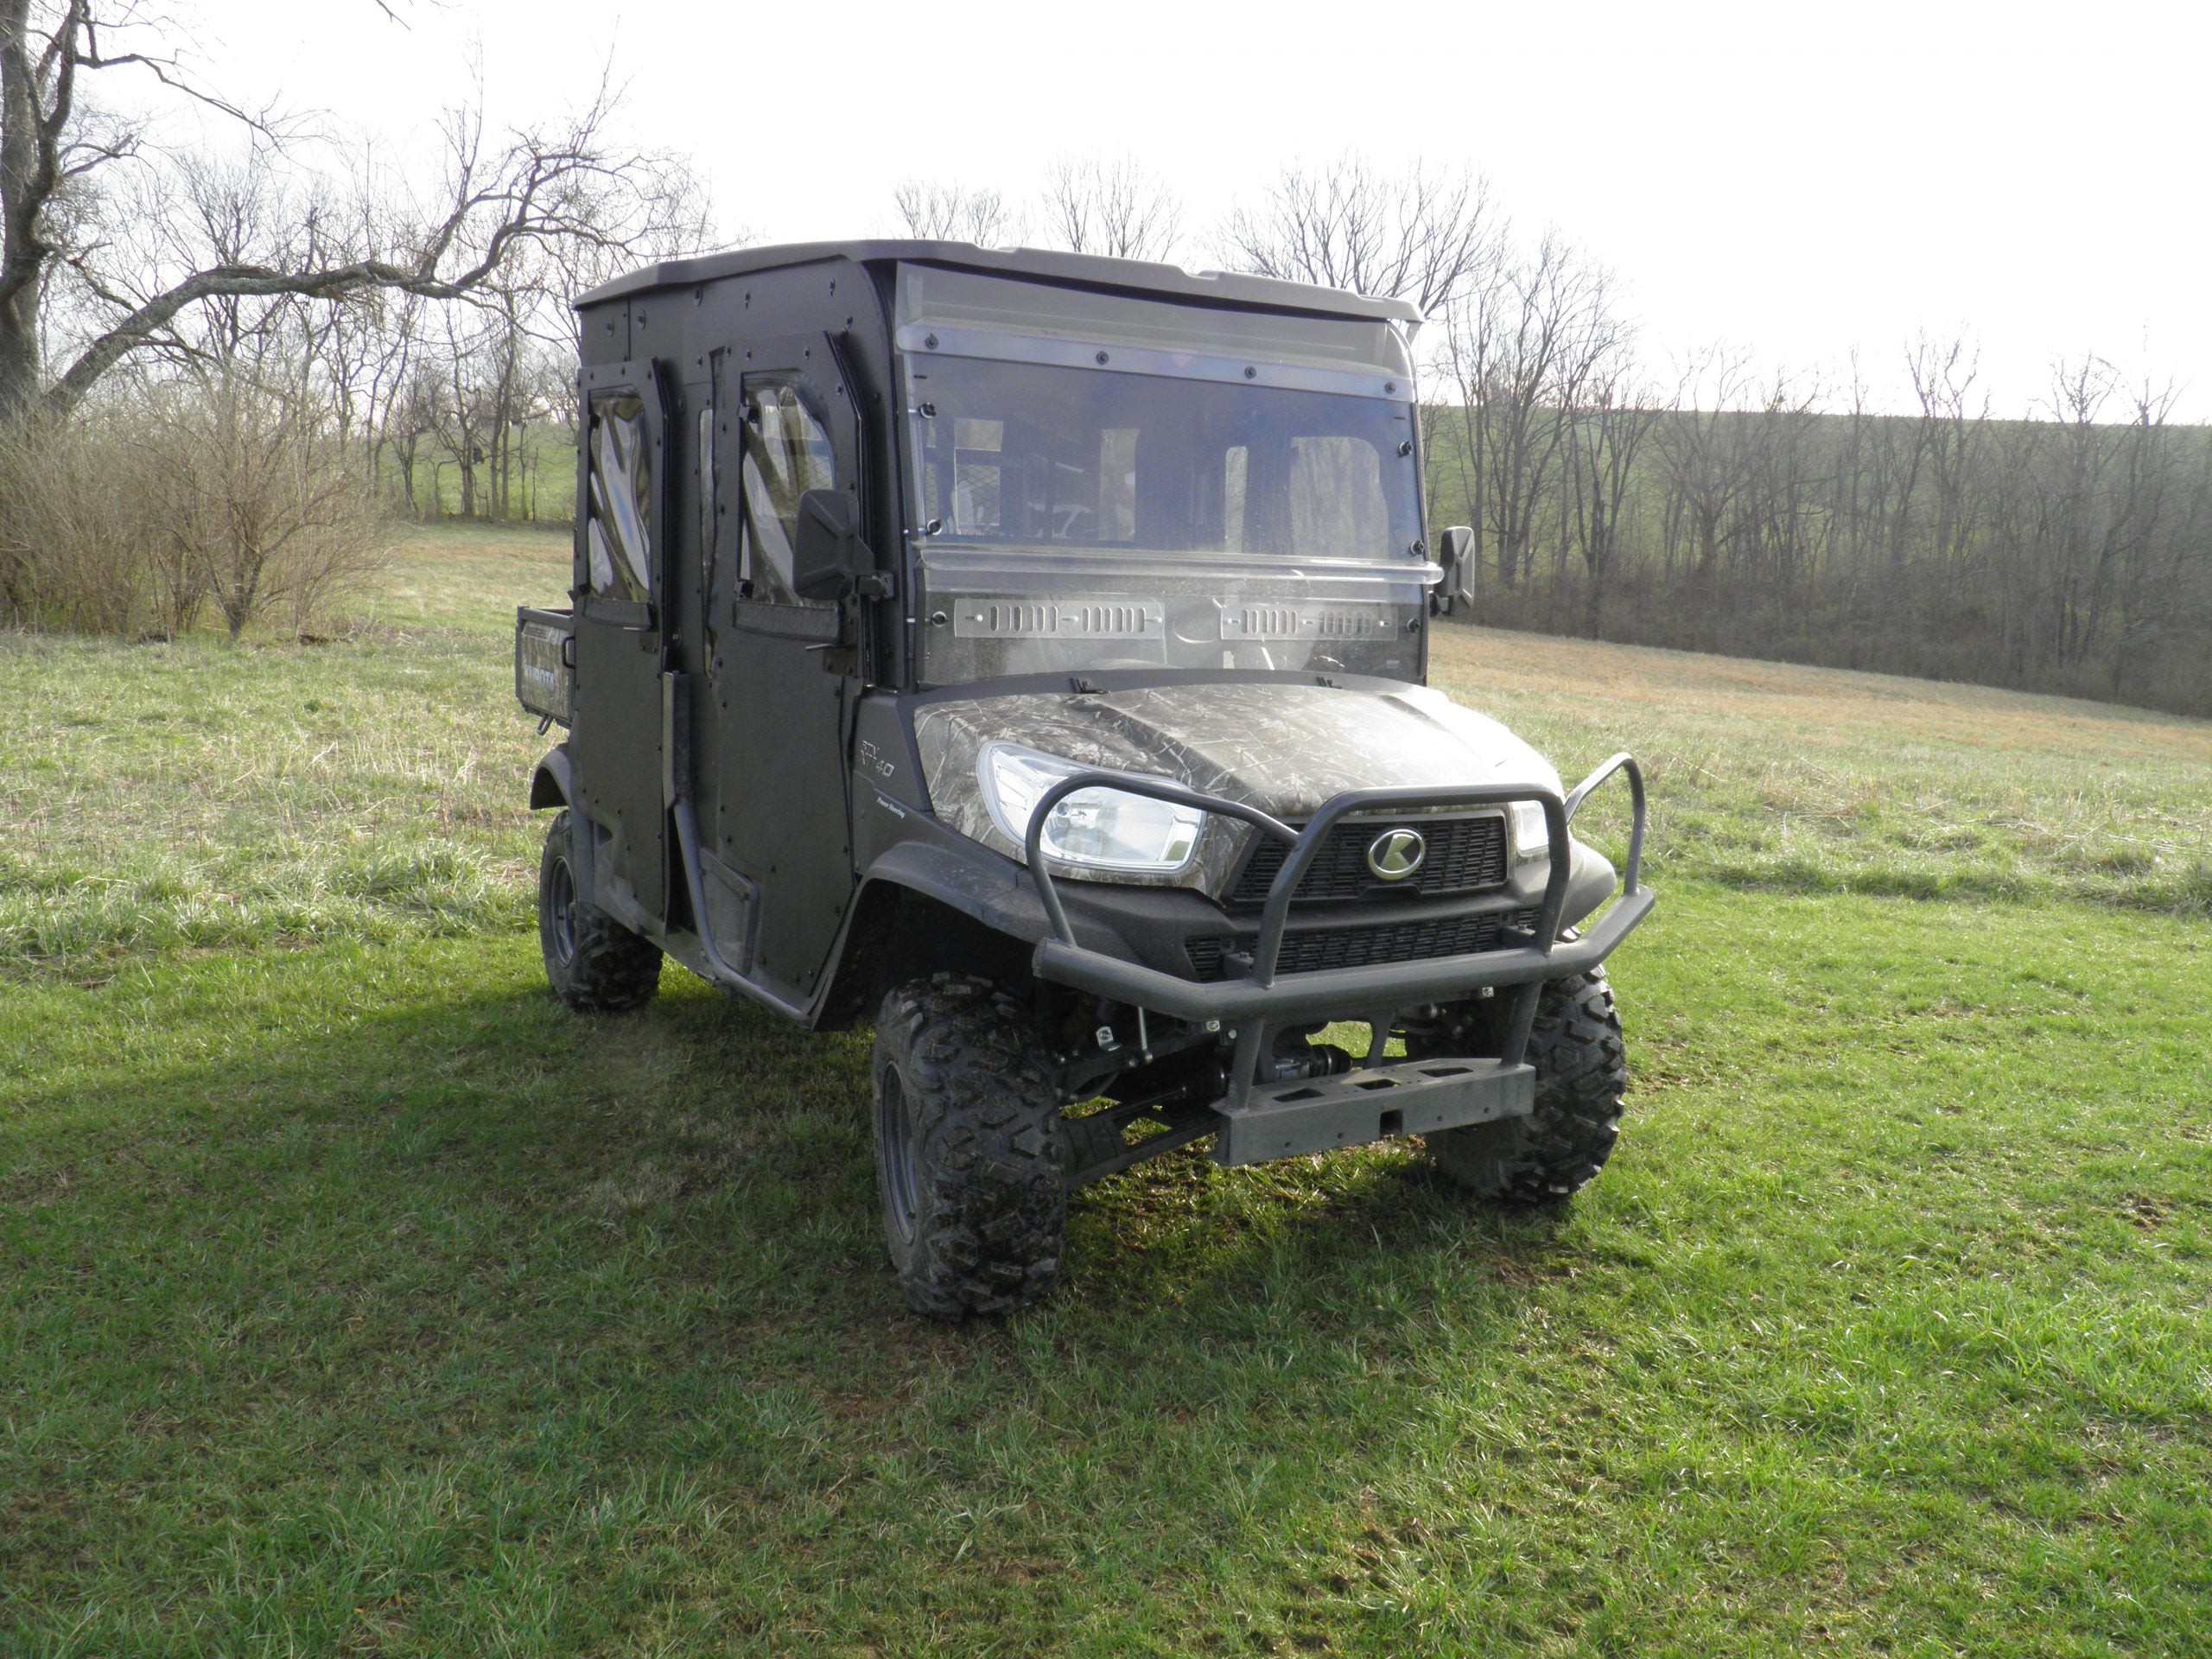
{"type": "Polygon", "coordinates": [[[33,1409],[239,1427],[279,1378],[347,1438],[405,1418],[422,1455],[449,1453],[438,1413],[495,1440],[615,1413],[624,1447],[675,1455],[781,1389],[867,1440],[911,1429],[918,1383],[927,1420],[1006,1367],[1144,1371],[1172,1402],[1265,1349],[1349,1387],[1416,1312],[1506,1336],[1575,1254],[1411,1150],[1232,1172],[1183,1150],[1075,1197],[1048,1303],[936,1325],[883,1256],[867,1031],[796,1033],[672,973],[615,1018],[493,978],[305,1033],[217,1000],[208,1057],[139,1071],[126,1106],[97,1075],[38,1091],[0,1183],[0,1265],[53,1338],[33,1409]]]}

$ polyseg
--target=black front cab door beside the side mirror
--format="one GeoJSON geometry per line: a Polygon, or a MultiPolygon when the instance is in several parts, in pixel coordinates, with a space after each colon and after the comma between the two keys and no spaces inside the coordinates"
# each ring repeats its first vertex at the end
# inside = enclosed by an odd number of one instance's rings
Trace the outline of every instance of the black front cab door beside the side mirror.
{"type": "MultiPolygon", "coordinates": [[[[730,363],[737,533],[717,617],[714,852],[757,902],[750,975],[812,1000],[852,902],[845,712],[858,695],[852,606],[799,597],[799,495],[860,489],[854,394],[825,334],[730,363]]],[[[723,387],[728,396],[730,387],[723,387]]]]}

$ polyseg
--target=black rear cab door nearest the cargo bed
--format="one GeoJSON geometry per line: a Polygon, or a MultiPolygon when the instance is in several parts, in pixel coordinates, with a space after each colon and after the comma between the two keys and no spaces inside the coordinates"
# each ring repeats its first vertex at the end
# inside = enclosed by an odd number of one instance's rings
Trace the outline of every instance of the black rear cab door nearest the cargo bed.
{"type": "Polygon", "coordinates": [[[593,880],[668,916],[661,796],[664,400],[650,363],[584,369],[575,513],[577,810],[604,832],[593,880]]]}

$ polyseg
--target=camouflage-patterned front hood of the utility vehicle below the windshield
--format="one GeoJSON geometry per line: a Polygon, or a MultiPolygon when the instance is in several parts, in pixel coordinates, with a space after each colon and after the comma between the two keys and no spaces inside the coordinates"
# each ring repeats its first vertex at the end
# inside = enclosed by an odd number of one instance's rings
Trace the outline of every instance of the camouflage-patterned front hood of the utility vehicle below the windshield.
{"type": "MultiPolygon", "coordinates": [[[[918,708],[914,737],[938,818],[1011,858],[1022,849],[991,823],[982,799],[978,761],[987,743],[1150,772],[1279,818],[1305,818],[1345,790],[1559,787],[1559,774],[1513,732],[1427,686],[1376,692],[1217,681],[1075,697],[971,697],[918,708]]],[[[1130,880],[1221,891],[1248,834],[1217,821],[1194,869],[1130,880]]]]}

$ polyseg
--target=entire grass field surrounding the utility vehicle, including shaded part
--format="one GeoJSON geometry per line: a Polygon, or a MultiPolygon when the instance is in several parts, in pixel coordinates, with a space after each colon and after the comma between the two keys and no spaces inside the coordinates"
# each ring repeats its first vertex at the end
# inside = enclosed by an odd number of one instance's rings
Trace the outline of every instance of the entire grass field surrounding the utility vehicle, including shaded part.
{"type": "Polygon", "coordinates": [[[865,1033],[542,989],[562,560],[0,639],[0,1652],[2212,1650],[2212,726],[1453,635],[1652,765],[1613,1168],[1179,1155],[945,1329],[865,1033]]]}

